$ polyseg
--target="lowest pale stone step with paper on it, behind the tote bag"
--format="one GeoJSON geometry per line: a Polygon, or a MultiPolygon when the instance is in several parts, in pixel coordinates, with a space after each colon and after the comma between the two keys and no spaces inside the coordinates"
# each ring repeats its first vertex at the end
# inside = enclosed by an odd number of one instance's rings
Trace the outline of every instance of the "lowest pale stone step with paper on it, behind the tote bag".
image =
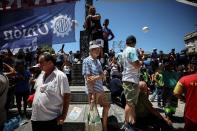
{"type": "MultiPolygon", "coordinates": [[[[98,106],[97,108],[101,116],[103,109],[100,106],[98,106]]],[[[85,131],[88,112],[89,112],[88,104],[71,104],[69,106],[68,115],[63,125],[63,131],[85,131]]],[[[123,124],[124,122],[123,108],[115,104],[111,104],[108,116],[111,115],[117,117],[120,125],[123,124]]]]}

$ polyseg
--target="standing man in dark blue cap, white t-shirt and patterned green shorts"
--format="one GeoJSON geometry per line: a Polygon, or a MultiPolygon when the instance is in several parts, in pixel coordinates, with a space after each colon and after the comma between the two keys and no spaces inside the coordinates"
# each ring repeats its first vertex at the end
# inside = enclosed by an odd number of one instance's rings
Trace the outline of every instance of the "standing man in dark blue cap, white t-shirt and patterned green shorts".
{"type": "Polygon", "coordinates": [[[132,131],[132,125],[135,124],[135,105],[137,104],[139,95],[139,70],[142,61],[139,60],[137,50],[135,48],[136,38],[129,36],[126,39],[126,48],[122,54],[123,64],[123,88],[126,97],[125,106],[125,124],[122,128],[132,131]]]}

